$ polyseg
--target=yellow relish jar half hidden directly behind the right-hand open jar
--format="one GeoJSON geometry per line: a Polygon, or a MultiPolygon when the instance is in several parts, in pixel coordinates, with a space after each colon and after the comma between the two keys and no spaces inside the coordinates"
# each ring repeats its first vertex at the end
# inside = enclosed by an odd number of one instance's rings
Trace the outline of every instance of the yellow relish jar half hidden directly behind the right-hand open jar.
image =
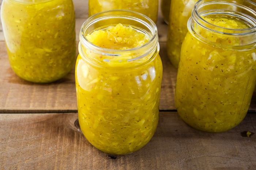
{"type": "Polygon", "coordinates": [[[166,50],[172,65],[178,68],[181,45],[187,29],[187,21],[197,0],[172,0],[170,6],[169,25],[166,50]]]}

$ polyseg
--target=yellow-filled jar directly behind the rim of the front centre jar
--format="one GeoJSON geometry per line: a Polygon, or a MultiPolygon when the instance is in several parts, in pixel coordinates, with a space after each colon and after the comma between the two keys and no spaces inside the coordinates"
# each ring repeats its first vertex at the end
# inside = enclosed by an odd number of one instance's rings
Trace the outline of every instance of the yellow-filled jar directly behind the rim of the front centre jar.
{"type": "Polygon", "coordinates": [[[89,16],[111,9],[140,12],[157,23],[158,0],[89,0],[89,16]]]}

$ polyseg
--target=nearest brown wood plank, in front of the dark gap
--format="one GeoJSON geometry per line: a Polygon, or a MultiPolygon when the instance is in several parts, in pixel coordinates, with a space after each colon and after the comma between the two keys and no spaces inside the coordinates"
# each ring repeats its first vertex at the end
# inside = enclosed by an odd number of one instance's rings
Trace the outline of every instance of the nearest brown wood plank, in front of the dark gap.
{"type": "Polygon", "coordinates": [[[110,159],[75,126],[77,113],[0,114],[0,169],[255,169],[256,114],[234,129],[205,133],[177,112],[161,112],[157,131],[139,151],[110,159]]]}

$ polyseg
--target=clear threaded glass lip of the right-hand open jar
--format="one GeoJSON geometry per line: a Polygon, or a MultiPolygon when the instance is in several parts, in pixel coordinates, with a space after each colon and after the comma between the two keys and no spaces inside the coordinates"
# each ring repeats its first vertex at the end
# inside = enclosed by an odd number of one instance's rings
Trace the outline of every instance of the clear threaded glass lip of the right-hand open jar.
{"type": "Polygon", "coordinates": [[[225,0],[199,0],[194,6],[194,9],[192,11],[192,17],[194,19],[197,18],[196,23],[201,25],[202,27],[209,27],[210,25],[211,27],[222,28],[223,30],[221,32],[218,30],[213,30],[215,32],[223,34],[226,33],[230,35],[244,35],[246,33],[255,33],[256,31],[256,12],[253,10],[253,6],[255,7],[255,4],[248,0],[244,0],[244,4],[238,4],[234,3],[233,1],[225,0]],[[201,16],[230,17],[243,21],[249,26],[249,28],[224,28],[208,23],[201,16]],[[234,33],[230,33],[230,31],[234,33]]]}

